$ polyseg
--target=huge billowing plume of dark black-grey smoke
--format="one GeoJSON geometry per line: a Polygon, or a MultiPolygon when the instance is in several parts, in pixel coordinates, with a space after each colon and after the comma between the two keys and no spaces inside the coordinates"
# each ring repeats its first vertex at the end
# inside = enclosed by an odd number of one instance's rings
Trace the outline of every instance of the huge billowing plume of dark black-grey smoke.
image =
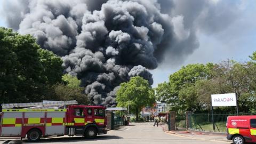
{"type": "Polygon", "coordinates": [[[172,63],[198,47],[195,22],[189,25],[189,14],[174,9],[183,10],[179,3],[19,0],[6,1],[4,9],[10,27],[62,57],[65,73],[82,80],[92,104],[115,106],[120,83],[141,76],[151,85],[148,69],[157,68],[164,55],[172,63]]]}

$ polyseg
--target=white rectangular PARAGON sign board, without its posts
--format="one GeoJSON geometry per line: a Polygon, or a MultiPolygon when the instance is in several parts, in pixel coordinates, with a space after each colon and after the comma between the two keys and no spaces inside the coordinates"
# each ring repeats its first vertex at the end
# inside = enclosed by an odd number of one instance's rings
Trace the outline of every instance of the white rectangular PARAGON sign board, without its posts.
{"type": "Polygon", "coordinates": [[[236,94],[212,94],[212,106],[236,106],[236,94]]]}

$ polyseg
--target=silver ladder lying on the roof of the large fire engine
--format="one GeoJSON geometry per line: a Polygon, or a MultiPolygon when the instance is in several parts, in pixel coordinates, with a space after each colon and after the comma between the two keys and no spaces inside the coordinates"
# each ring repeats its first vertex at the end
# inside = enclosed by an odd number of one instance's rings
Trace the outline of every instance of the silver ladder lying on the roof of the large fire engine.
{"type": "Polygon", "coordinates": [[[49,108],[65,108],[67,105],[77,105],[76,100],[71,101],[43,101],[28,103],[3,103],[2,109],[25,108],[25,109],[49,109],[49,108]]]}

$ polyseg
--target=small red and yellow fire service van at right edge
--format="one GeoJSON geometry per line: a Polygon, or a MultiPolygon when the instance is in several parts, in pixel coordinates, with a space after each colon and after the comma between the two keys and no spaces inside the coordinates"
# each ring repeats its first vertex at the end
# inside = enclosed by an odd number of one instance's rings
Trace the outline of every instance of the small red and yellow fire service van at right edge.
{"type": "Polygon", "coordinates": [[[227,139],[235,144],[256,142],[256,116],[228,116],[227,139]]]}

